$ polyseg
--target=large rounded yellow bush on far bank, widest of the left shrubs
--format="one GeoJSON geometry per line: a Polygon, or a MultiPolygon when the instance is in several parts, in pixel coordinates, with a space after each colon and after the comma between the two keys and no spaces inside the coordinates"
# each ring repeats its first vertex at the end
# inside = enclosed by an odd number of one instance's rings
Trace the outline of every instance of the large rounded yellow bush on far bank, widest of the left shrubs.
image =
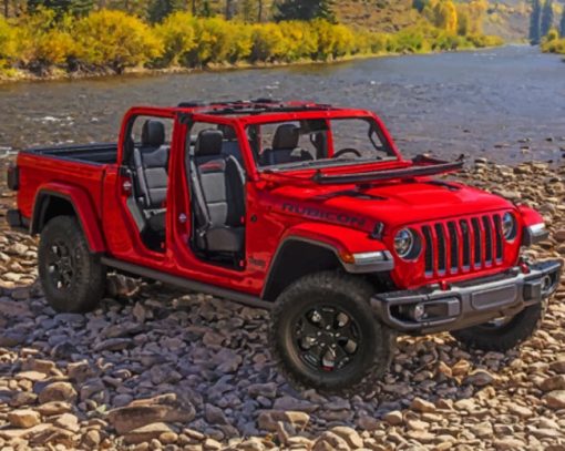
{"type": "Polygon", "coordinates": [[[101,10],[81,19],[74,29],[82,62],[122,73],[163,54],[163,43],[140,19],[122,11],[101,10]]]}

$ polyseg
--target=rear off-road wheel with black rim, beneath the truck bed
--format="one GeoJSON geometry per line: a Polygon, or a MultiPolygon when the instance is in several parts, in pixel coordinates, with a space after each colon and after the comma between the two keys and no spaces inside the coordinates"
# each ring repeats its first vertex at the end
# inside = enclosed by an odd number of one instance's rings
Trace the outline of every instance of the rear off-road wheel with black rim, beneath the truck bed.
{"type": "Polygon", "coordinates": [[[106,268],[100,262],[100,256],[90,252],[74,217],[56,216],[43,227],[38,260],[43,293],[53,309],[86,312],[99,305],[106,288],[106,268]],[[65,273],[66,267],[70,268],[66,270],[69,274],[65,273]],[[59,276],[63,273],[64,276],[59,276]],[[64,285],[61,281],[63,278],[64,285]]]}

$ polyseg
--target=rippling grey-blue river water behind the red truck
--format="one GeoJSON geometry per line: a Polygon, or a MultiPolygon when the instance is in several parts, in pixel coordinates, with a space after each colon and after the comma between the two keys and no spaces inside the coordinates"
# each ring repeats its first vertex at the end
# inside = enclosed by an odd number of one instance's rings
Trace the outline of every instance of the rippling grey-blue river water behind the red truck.
{"type": "Polygon", "coordinates": [[[338,64],[0,84],[0,154],[115,141],[131,105],[258,96],[374,110],[407,155],[563,161],[565,63],[530,47],[338,64]]]}

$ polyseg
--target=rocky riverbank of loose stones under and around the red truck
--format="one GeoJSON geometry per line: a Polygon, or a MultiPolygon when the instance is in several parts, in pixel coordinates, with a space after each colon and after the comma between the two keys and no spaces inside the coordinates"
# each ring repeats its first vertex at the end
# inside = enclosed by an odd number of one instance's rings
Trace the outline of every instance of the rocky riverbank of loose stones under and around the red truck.
{"type": "MultiPolygon", "coordinates": [[[[542,259],[565,256],[564,177],[565,167],[483,158],[456,175],[537,208],[552,238],[527,253],[542,259]]],[[[277,373],[263,310],[114,278],[96,311],[56,315],[35,281],[35,239],[6,228],[12,202],[0,193],[0,448],[565,445],[563,284],[520,349],[468,352],[448,334],[402,337],[371,397],[327,398],[298,393],[277,373]]]]}

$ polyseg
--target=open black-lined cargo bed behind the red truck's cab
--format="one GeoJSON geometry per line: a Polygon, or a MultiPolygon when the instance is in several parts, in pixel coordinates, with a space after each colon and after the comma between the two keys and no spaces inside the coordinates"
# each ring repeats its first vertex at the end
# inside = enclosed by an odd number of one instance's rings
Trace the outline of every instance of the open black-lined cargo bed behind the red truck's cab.
{"type": "Polygon", "coordinates": [[[59,145],[52,147],[34,147],[22,151],[22,153],[102,165],[113,164],[116,162],[117,144],[95,143],[82,145],[59,145]]]}

